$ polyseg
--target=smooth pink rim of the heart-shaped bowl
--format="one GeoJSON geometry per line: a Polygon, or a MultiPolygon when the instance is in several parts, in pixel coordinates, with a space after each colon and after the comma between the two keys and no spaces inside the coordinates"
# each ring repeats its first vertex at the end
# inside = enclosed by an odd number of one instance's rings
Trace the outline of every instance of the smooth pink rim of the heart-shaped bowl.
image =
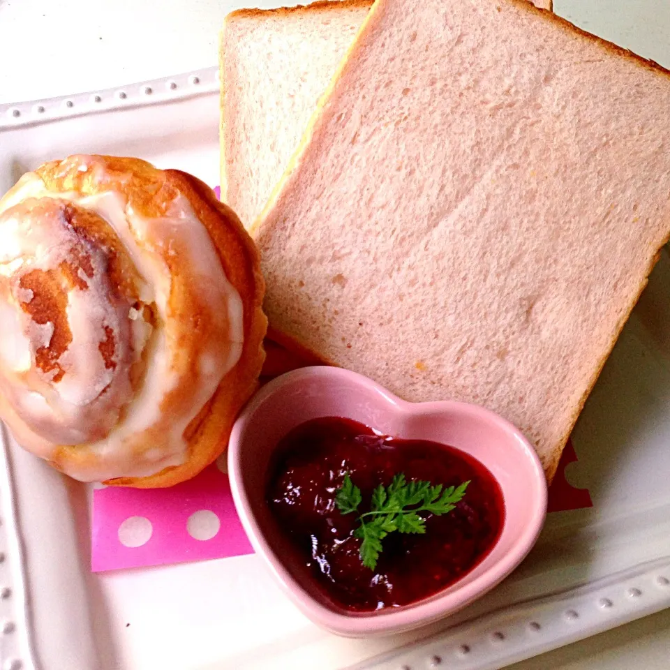
{"type": "MultiPolygon", "coordinates": [[[[402,437],[402,435],[399,435],[399,437],[402,437]]],[[[488,467],[485,461],[482,461],[482,463],[488,467]]],[[[546,518],[548,491],[542,463],[540,463],[535,449],[530,445],[526,436],[514,424],[502,418],[496,412],[473,403],[452,400],[419,403],[405,401],[389,392],[378,382],[359,373],[335,366],[308,366],[284,373],[267,382],[253,396],[240,412],[230,433],[228,475],[234,505],[254,551],[260,554],[281,588],[308,618],[321,627],[343,636],[371,636],[411,630],[463,609],[497,586],[521,563],[523,558],[526,558],[542,531],[546,518]],[[459,581],[456,581],[452,586],[438,591],[435,595],[403,606],[400,609],[340,613],[318,602],[311,594],[307,593],[283,565],[281,558],[276,556],[271,543],[267,541],[258,521],[255,519],[242,483],[239,453],[244,448],[241,438],[244,436],[246,426],[253,421],[256,412],[262,409],[266,401],[288,385],[295,385],[313,378],[320,378],[327,382],[354,382],[367,392],[380,396],[382,401],[393,406],[395,412],[401,412],[403,415],[416,415],[417,412],[459,412],[475,417],[475,420],[483,419],[492,422],[500,429],[514,435],[514,438],[526,452],[526,456],[529,457],[531,464],[529,469],[533,472],[533,481],[528,482],[528,491],[535,494],[535,500],[532,502],[533,509],[530,520],[521,530],[519,536],[514,539],[512,549],[502,559],[497,560],[496,563],[493,563],[491,567],[469,583],[459,586],[459,581]],[[456,599],[457,603],[450,602],[456,599]]],[[[496,542],[496,544],[498,543],[496,542]]],[[[491,551],[495,546],[494,544],[491,551]]]]}

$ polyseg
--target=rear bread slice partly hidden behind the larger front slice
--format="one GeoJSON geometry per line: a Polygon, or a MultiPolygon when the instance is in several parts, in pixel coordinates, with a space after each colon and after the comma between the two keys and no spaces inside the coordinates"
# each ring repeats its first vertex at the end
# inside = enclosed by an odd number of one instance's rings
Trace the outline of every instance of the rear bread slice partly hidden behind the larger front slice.
{"type": "MultiPolygon", "coordinates": [[[[221,35],[221,198],[244,225],[267,203],[373,0],[238,10],[221,35]]],[[[551,0],[534,0],[551,8],[551,0]]]]}

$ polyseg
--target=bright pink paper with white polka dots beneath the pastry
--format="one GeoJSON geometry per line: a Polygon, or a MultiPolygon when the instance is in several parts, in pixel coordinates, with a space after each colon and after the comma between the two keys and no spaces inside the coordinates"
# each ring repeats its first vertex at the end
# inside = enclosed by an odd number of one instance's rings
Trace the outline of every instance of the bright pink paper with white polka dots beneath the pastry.
{"type": "Polygon", "coordinates": [[[110,486],[93,495],[93,572],[253,553],[216,464],[170,489],[110,486]]]}

